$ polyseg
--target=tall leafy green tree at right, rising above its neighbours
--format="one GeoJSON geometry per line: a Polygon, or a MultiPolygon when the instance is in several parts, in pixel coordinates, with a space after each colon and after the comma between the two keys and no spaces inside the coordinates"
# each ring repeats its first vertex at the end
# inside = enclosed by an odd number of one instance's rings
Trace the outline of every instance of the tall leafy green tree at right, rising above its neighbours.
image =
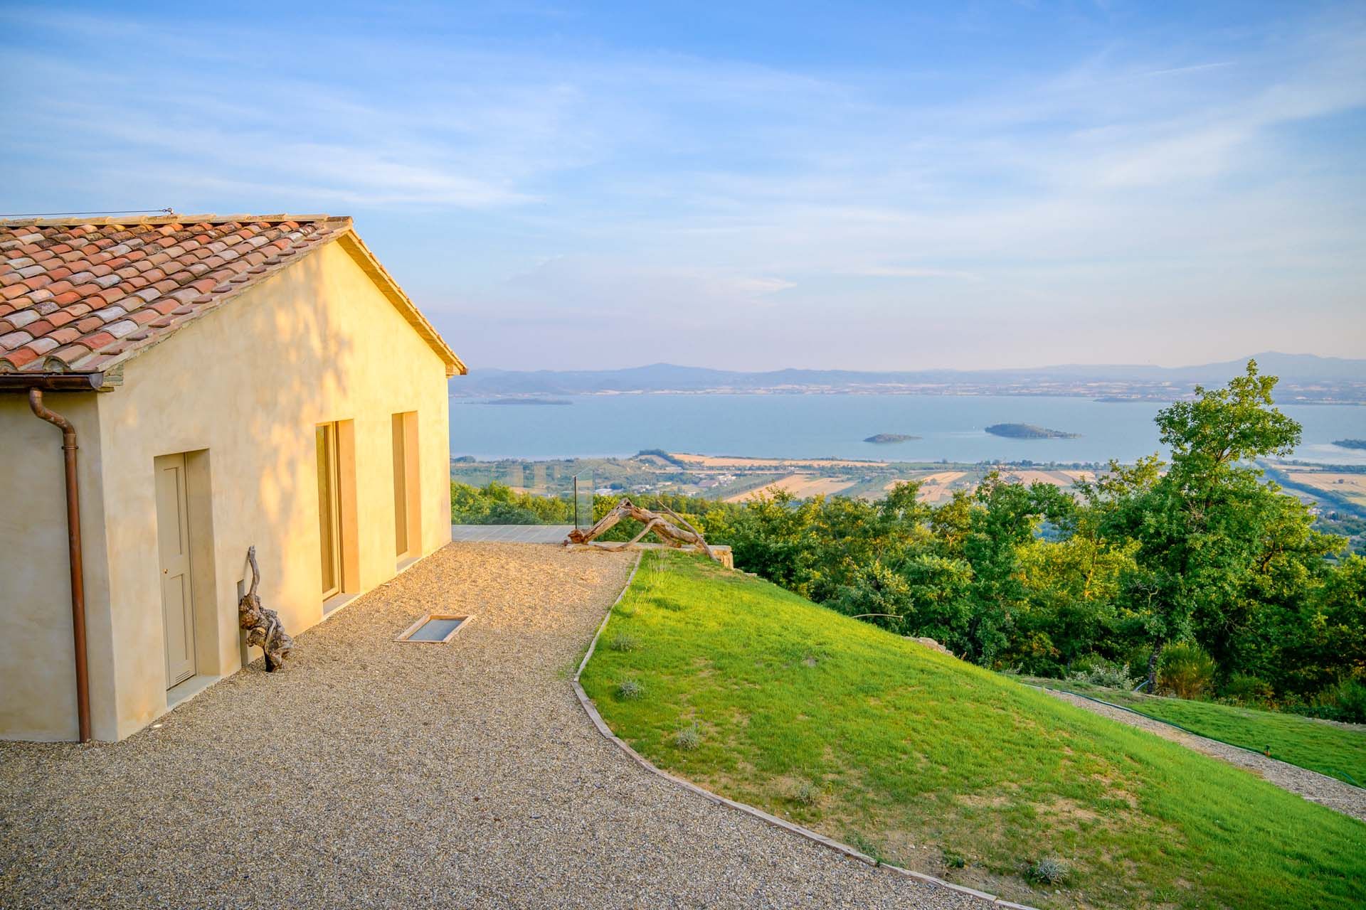
{"type": "Polygon", "coordinates": [[[1224,389],[1197,386],[1194,401],[1157,415],[1172,453],[1167,472],[1153,478],[1154,460],[1100,491],[1105,533],[1138,543],[1120,600],[1147,634],[1150,685],[1167,641],[1194,637],[1227,667],[1239,633],[1258,618],[1257,576],[1277,559],[1279,569],[1306,569],[1335,546],[1311,536],[1307,509],[1251,464],[1290,454],[1300,439],[1299,424],[1274,407],[1274,386],[1253,360],[1224,389]]]}

